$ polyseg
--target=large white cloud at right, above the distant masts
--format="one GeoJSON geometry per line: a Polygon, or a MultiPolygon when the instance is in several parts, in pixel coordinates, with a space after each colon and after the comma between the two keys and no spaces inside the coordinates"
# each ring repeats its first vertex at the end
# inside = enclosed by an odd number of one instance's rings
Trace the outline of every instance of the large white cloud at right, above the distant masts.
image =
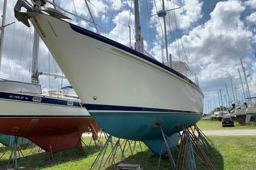
{"type": "MultiPolygon", "coordinates": [[[[182,36],[184,43],[188,41],[191,69],[199,75],[206,96],[225,85],[228,78],[238,78],[239,58],[245,57],[251,49],[254,35],[240,20],[244,10],[239,1],[218,2],[209,21],[182,36]]],[[[174,42],[170,49],[178,55],[174,42]]],[[[181,57],[185,58],[184,54],[181,57]]]]}

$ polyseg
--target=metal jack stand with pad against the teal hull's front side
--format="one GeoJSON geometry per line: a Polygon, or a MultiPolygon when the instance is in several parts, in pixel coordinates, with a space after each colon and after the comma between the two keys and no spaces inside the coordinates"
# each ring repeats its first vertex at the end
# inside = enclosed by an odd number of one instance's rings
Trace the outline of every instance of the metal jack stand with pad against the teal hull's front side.
{"type": "MultiPolygon", "coordinates": [[[[167,154],[168,154],[168,159],[170,161],[170,165],[171,165],[171,169],[177,169],[176,168],[176,165],[175,165],[175,162],[174,162],[174,159],[173,159],[173,156],[171,154],[171,151],[170,151],[170,147],[168,146],[168,143],[167,143],[167,140],[166,140],[166,137],[167,135],[164,134],[164,132],[162,131],[162,127],[161,127],[161,123],[163,122],[163,120],[161,119],[158,119],[154,125],[154,128],[159,128],[161,130],[161,134],[162,134],[162,143],[164,143],[165,145],[165,149],[167,150],[167,154]]],[[[167,139],[171,142],[171,140],[167,137],[167,139]]],[[[159,169],[159,166],[160,166],[160,162],[161,162],[161,155],[162,155],[162,143],[161,143],[161,151],[160,151],[160,156],[159,156],[159,162],[158,162],[158,169],[159,169]]],[[[172,143],[172,142],[171,142],[172,143]]],[[[173,143],[172,143],[173,144],[173,143]]],[[[173,144],[174,145],[174,144],[173,144]]]]}

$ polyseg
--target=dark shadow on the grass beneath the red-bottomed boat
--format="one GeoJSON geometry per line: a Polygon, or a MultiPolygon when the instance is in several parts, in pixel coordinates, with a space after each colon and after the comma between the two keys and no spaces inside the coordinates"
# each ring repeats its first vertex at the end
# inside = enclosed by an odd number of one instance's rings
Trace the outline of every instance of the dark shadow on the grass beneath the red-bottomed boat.
{"type": "MultiPolygon", "coordinates": [[[[8,148],[0,149],[0,157],[5,152],[6,149],[8,148]]],[[[89,149],[83,146],[82,149],[63,150],[60,152],[53,153],[53,158],[54,158],[54,161],[53,161],[50,153],[47,153],[47,152],[38,153],[39,147],[33,147],[31,149],[27,148],[26,150],[24,150],[22,148],[22,153],[25,154],[25,158],[20,158],[17,160],[19,167],[25,166],[28,168],[28,165],[29,165],[29,168],[31,169],[50,168],[52,166],[56,166],[61,163],[85,159],[86,157],[100,150],[96,146],[89,146],[89,149]]],[[[10,154],[11,154],[11,151],[8,150],[8,152],[5,153],[5,156],[0,159],[0,169],[7,169],[8,159],[10,154]]],[[[10,163],[10,167],[11,166],[12,166],[12,160],[10,163]]]]}

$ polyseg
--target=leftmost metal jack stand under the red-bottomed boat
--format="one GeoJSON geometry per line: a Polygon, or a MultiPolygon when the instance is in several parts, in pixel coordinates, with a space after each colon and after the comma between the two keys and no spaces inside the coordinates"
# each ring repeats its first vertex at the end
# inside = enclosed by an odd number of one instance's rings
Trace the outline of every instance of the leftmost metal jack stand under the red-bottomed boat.
{"type": "MultiPolygon", "coordinates": [[[[9,169],[11,160],[13,160],[13,167],[14,167],[13,169],[26,169],[25,167],[17,166],[17,155],[19,156],[19,159],[20,159],[20,155],[23,157],[23,159],[25,159],[25,156],[23,155],[22,150],[20,149],[20,146],[18,144],[18,137],[16,135],[18,130],[19,130],[19,128],[12,129],[12,131],[14,132],[14,141],[11,144],[12,148],[11,148],[11,154],[10,154],[10,157],[8,160],[7,169],[9,169]]],[[[27,162],[26,162],[26,165],[29,168],[29,165],[27,162]]]]}

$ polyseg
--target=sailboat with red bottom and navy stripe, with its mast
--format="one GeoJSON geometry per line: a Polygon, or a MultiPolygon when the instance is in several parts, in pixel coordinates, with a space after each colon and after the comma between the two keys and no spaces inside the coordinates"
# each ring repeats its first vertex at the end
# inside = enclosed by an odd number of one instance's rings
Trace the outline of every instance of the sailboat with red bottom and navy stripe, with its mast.
{"type": "MultiPolygon", "coordinates": [[[[6,7],[7,0],[4,1],[1,51],[6,7]]],[[[27,138],[47,152],[79,146],[82,133],[88,127],[96,139],[97,125],[79,98],[65,93],[42,92],[38,82],[38,50],[35,45],[39,44],[38,41],[39,36],[35,32],[32,82],[0,80],[0,134],[27,138]]]]}

